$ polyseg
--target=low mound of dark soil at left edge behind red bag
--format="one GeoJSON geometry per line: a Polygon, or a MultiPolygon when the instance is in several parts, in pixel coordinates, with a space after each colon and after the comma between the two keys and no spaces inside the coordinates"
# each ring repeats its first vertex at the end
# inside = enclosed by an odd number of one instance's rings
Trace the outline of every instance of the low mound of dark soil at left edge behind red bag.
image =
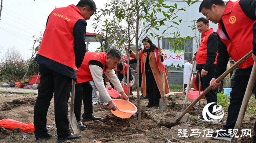
{"type": "Polygon", "coordinates": [[[7,102],[2,106],[2,111],[8,111],[13,108],[19,107],[22,104],[30,104],[30,105],[35,105],[35,99],[24,99],[24,100],[19,100],[19,99],[14,99],[11,102],[7,102]]]}

